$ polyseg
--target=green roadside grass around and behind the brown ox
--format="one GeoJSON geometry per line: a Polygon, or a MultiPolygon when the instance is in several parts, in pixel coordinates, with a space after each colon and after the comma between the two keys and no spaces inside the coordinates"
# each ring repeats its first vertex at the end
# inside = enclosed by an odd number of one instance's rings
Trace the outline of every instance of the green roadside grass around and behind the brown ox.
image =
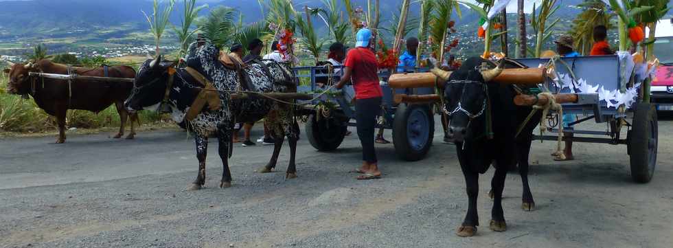
{"type": "MultiPolygon", "coordinates": [[[[56,130],[56,117],[47,115],[32,99],[22,99],[21,95],[5,92],[8,79],[0,76],[0,132],[43,133],[56,130]]],[[[140,111],[141,124],[170,122],[168,115],[151,111],[140,111]]],[[[96,114],[91,111],[69,110],[66,126],[76,128],[118,127],[119,115],[115,106],[96,114]]],[[[128,124],[127,124],[128,125],[128,124]]]]}

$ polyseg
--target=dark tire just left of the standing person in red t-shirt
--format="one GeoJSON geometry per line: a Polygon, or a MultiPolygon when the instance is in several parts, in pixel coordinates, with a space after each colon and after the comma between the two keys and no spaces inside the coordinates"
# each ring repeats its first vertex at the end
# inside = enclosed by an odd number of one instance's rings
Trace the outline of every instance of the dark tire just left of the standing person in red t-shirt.
{"type": "Polygon", "coordinates": [[[304,126],[308,142],[321,152],[336,150],[343,142],[347,126],[334,118],[316,120],[315,113],[308,115],[308,122],[304,126]],[[328,128],[328,122],[330,128],[328,128]],[[335,129],[336,128],[336,129],[335,129]]]}

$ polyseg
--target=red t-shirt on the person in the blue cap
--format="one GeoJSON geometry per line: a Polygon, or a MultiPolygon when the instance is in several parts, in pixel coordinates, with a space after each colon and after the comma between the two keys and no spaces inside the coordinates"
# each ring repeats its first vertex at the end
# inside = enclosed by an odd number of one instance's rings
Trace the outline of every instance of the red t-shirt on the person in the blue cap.
{"type": "Polygon", "coordinates": [[[357,47],[348,51],[346,61],[343,63],[352,71],[351,81],[355,88],[356,99],[380,98],[383,96],[381,86],[378,84],[378,64],[372,50],[357,47]]]}

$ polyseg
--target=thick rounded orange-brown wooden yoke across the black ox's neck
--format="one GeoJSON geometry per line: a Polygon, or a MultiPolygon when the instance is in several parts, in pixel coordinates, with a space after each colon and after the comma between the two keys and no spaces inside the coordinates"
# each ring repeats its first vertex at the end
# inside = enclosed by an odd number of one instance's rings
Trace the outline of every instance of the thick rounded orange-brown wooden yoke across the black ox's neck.
{"type": "MultiPolygon", "coordinates": [[[[514,68],[503,69],[492,82],[500,84],[521,84],[525,86],[536,86],[545,82],[545,68],[514,68]]],[[[388,84],[393,89],[435,87],[437,76],[431,72],[415,74],[393,74],[388,79],[388,84]]],[[[444,88],[443,80],[437,87],[444,88]]]]}

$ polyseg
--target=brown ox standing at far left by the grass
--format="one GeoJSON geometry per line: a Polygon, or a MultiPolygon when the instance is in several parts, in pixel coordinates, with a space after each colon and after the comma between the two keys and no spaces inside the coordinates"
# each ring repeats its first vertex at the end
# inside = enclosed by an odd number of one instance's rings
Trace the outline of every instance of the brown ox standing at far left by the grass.
{"type": "MultiPolygon", "coordinates": [[[[111,104],[117,106],[117,113],[122,121],[119,133],[115,138],[124,135],[124,126],[129,113],[124,109],[124,100],[133,89],[133,82],[100,82],[95,80],[58,80],[29,76],[28,73],[44,72],[47,74],[78,74],[82,76],[108,76],[110,78],[135,78],[135,70],[128,66],[81,68],[68,67],[43,59],[36,63],[10,64],[10,69],[3,72],[9,74],[10,82],[7,90],[19,95],[31,95],[37,105],[58,120],[58,139],[56,143],[65,142],[65,114],[68,109],[82,109],[98,113],[111,104]],[[107,75],[106,75],[107,74],[107,75]]],[[[134,120],[137,113],[130,114],[131,132],[126,139],[133,139],[134,120]]]]}

